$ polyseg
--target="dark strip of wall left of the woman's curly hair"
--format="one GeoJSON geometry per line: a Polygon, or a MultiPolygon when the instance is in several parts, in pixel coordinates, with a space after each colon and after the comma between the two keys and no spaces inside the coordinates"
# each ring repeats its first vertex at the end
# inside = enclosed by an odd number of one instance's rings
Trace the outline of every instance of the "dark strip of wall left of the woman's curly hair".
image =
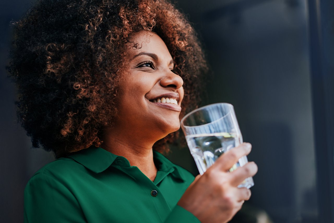
{"type": "Polygon", "coordinates": [[[0,222],[23,222],[24,187],[34,172],[53,160],[51,153],[30,148],[30,138],[17,123],[16,90],[5,70],[12,37],[10,21],[18,20],[30,2],[0,2],[0,222]]]}

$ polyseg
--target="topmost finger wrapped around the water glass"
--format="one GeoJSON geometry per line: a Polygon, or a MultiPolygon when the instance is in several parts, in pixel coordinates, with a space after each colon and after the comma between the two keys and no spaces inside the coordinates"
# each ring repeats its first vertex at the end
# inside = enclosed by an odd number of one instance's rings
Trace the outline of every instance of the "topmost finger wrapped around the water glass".
{"type": "Polygon", "coordinates": [[[239,158],[244,155],[248,155],[248,153],[251,152],[251,149],[251,143],[241,143],[239,146],[234,147],[222,154],[217,159],[216,166],[223,171],[228,171],[233,166],[233,164],[238,161],[239,158]]]}

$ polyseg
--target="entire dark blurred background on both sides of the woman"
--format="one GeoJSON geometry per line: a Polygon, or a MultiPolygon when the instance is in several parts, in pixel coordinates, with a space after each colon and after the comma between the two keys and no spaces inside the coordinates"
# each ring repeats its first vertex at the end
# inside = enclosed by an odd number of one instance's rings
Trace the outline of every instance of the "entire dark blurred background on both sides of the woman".
{"type": "MultiPolygon", "coordinates": [[[[23,221],[25,184],[54,159],[51,153],[32,149],[17,123],[16,90],[5,71],[12,35],[10,21],[18,20],[30,2],[0,3],[0,222],[23,221]]],[[[310,56],[311,20],[317,16],[310,16],[316,12],[316,5],[310,8],[310,2],[316,4],[311,0],[176,3],[199,33],[213,73],[203,104],[234,105],[243,139],[253,145],[248,159],[259,166],[252,198],[236,222],[266,222],[261,217],[278,223],[331,222],[326,216],[323,219],[328,221],[319,220],[317,204],[316,182],[320,178],[310,56]],[[248,214],[257,215],[258,220],[248,214]]],[[[198,173],[187,148],[173,149],[169,158],[198,173]]]]}

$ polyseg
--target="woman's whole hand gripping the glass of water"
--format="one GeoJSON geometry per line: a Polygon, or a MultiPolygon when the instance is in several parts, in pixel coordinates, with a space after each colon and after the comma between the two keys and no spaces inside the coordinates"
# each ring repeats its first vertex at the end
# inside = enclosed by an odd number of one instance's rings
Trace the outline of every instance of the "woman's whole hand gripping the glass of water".
{"type": "Polygon", "coordinates": [[[248,162],[231,173],[228,170],[251,148],[250,143],[242,143],[222,154],[202,176],[195,178],[177,204],[202,223],[228,222],[251,197],[251,190],[237,186],[254,176],[258,167],[248,162]]]}

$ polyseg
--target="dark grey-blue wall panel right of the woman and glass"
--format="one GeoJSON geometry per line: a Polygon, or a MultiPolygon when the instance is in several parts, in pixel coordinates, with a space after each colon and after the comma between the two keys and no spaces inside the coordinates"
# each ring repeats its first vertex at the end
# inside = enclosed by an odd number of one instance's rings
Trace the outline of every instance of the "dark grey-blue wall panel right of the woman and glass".
{"type": "Polygon", "coordinates": [[[259,172],[247,204],[274,222],[316,222],[305,2],[180,1],[179,7],[197,27],[212,67],[207,104],[233,104],[243,139],[253,144],[248,158],[259,172]]]}

